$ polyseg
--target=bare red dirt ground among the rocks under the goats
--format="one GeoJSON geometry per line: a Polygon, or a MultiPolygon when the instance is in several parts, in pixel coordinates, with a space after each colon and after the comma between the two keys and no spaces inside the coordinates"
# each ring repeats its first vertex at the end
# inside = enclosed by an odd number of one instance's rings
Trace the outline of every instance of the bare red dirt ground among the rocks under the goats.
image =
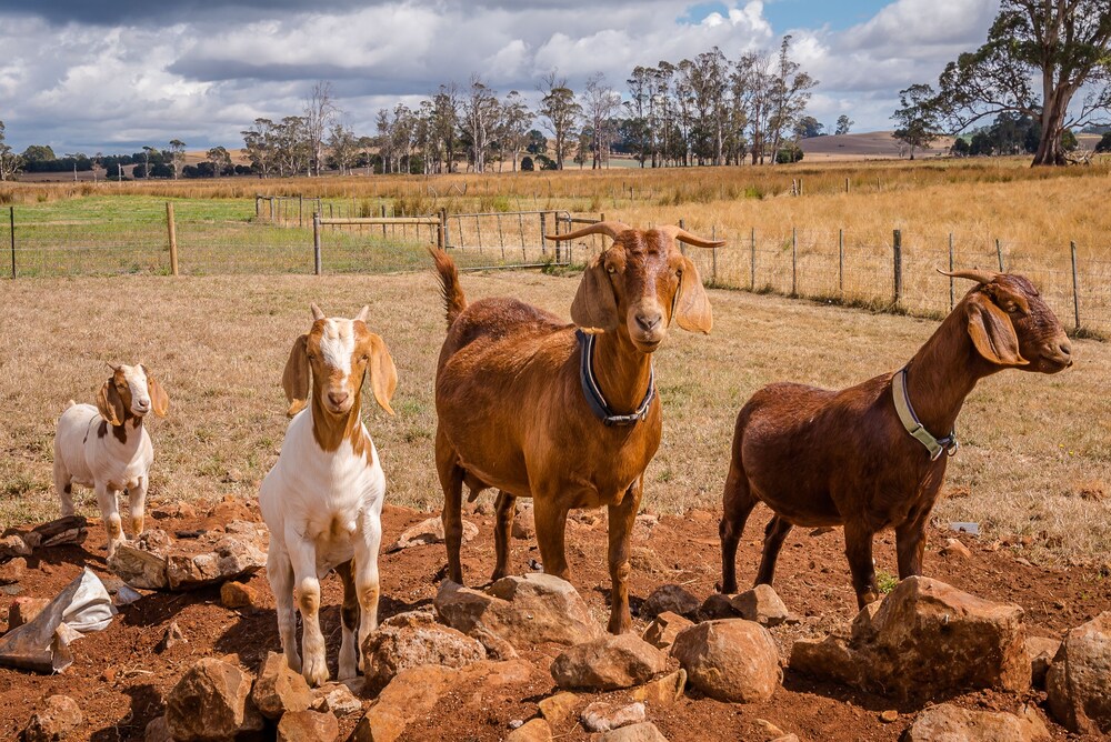
{"type": "MultiPolygon", "coordinates": [[[[387,507],[383,513],[384,545],[391,544],[408,525],[427,513],[387,507]]],[[[757,511],[742,541],[738,564],[743,581],[750,580],[759,561],[759,538],[767,511],[757,511]]],[[[486,581],[493,566],[492,517],[472,513],[467,517],[480,527],[474,541],[463,547],[463,564],[470,584],[486,581]]],[[[699,598],[714,589],[719,576],[717,514],[692,511],[684,517],[664,517],[649,534],[640,532],[635,552],[632,595],[633,611],[658,585],[679,583],[699,598]]],[[[210,520],[149,521],[149,527],[174,530],[197,527],[219,528],[210,520]]],[[[932,544],[948,534],[930,532],[932,544]]],[[[1030,635],[1060,636],[1067,629],[1111,610],[1111,575],[1107,568],[1051,570],[1018,562],[1021,548],[983,543],[962,537],[972,550],[969,561],[952,561],[930,549],[925,572],[962,590],[995,601],[1009,601],[1027,612],[1030,635]]],[[[83,547],[40,550],[28,560],[28,573],[20,582],[20,594],[50,598],[72,580],[83,565],[107,576],[104,532],[90,528],[83,547]]],[[[877,543],[877,563],[894,571],[893,537],[882,535],[877,543]]],[[[777,628],[773,633],[783,656],[799,635],[824,633],[834,622],[855,613],[849,585],[848,566],[842,553],[840,531],[811,535],[795,529],[788,537],[780,559],[777,591],[795,614],[804,616],[797,626],[777,628]]],[[[569,521],[569,560],[572,582],[604,624],[608,615],[609,576],[605,571],[604,521],[593,527],[569,521]]],[[[530,561],[539,554],[533,541],[513,540],[511,572],[530,571],[530,561]]],[[[429,605],[446,563],[442,544],[414,547],[383,553],[381,618],[429,605]]],[[[83,739],[100,742],[141,740],[148,721],[160,715],[164,696],[177,679],[202,656],[238,654],[250,670],[256,670],[266,652],[278,650],[273,599],[263,574],[250,584],[258,589],[262,606],[254,612],[224,609],[218,589],[191,593],[150,593],[121,610],[112,625],[73,644],[76,661],[64,673],[54,676],[32,675],[0,668],[0,739],[14,739],[44,699],[56,693],[73,698],[84,715],[83,739]],[[188,643],[162,654],[154,651],[171,621],[177,621],[188,643]]],[[[323,628],[328,636],[329,660],[334,673],[339,646],[340,588],[334,576],[324,582],[323,628]]],[[[0,620],[7,616],[13,598],[0,593],[0,620]]],[[[645,623],[635,621],[637,630],[645,623]]],[[[513,720],[527,720],[537,713],[537,702],[554,692],[548,666],[561,648],[551,645],[522,653],[537,670],[523,685],[508,685],[497,692],[477,693],[467,689],[441,699],[428,718],[411,724],[409,740],[454,739],[498,740],[509,732],[513,720]]],[[[622,692],[583,695],[582,705],[603,695],[623,699],[622,692]]],[[[992,692],[971,692],[953,699],[968,708],[1013,711],[1033,701],[1044,709],[1044,694],[1031,691],[1022,696],[992,692]]],[[[369,701],[363,708],[369,706],[369,701]]],[[[900,705],[882,698],[829,683],[819,683],[787,671],[783,688],[765,703],[729,704],[689,695],[669,709],[650,709],[654,722],[669,740],[752,739],[765,733],[758,719],[774,723],[802,740],[897,740],[913,721],[917,708],[900,705]],[[894,709],[899,720],[885,724],[882,711],[894,709]]],[[[359,714],[340,720],[341,739],[350,732],[359,714]]],[[[1074,739],[1050,723],[1054,739],[1074,739]]],[[[588,739],[579,725],[556,729],[560,739],[588,739]]]]}

